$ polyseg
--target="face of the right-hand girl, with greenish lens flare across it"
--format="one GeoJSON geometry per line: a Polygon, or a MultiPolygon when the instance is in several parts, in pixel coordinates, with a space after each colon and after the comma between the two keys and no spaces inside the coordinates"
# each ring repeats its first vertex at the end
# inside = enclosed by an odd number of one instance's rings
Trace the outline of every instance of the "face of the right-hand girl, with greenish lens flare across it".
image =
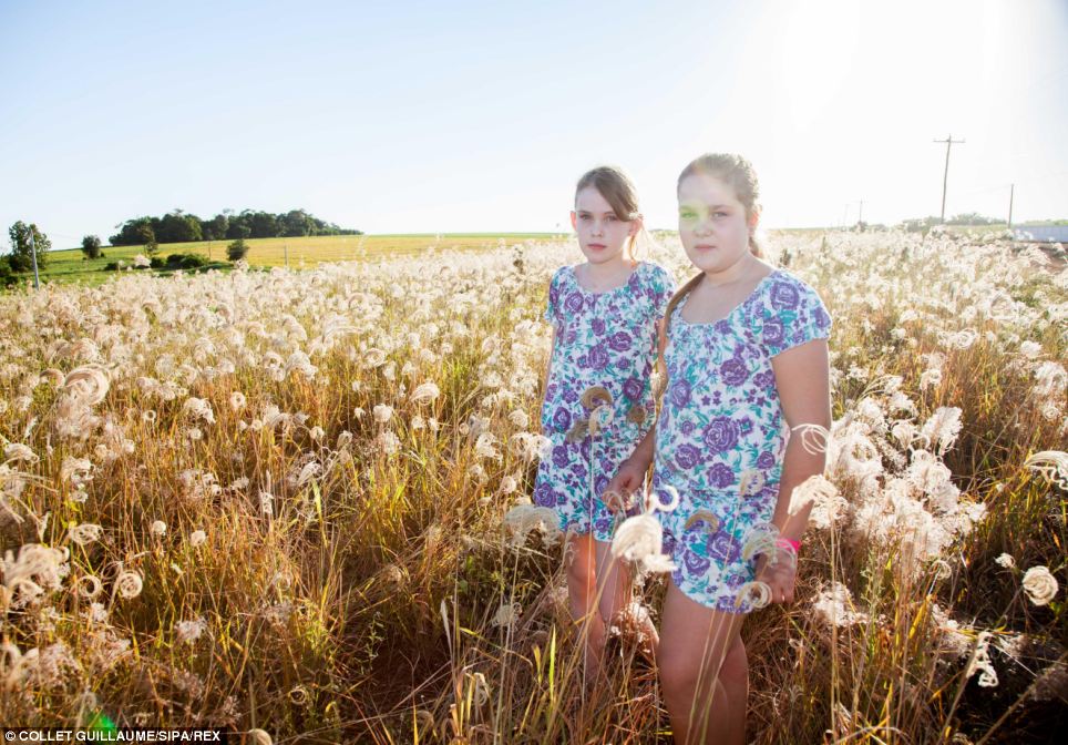
{"type": "Polygon", "coordinates": [[[717,274],[749,254],[758,214],[746,216],[735,190],[716,176],[694,174],[679,184],[679,237],[694,266],[717,274]]]}

